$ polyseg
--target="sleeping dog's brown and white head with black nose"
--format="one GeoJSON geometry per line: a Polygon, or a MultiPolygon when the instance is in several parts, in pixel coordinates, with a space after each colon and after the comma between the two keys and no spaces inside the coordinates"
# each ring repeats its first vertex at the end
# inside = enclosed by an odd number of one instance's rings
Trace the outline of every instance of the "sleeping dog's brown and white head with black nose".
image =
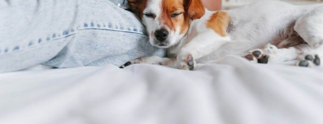
{"type": "Polygon", "coordinates": [[[153,46],[168,48],[187,33],[191,20],[204,15],[201,0],[128,0],[149,33],[153,46]]]}

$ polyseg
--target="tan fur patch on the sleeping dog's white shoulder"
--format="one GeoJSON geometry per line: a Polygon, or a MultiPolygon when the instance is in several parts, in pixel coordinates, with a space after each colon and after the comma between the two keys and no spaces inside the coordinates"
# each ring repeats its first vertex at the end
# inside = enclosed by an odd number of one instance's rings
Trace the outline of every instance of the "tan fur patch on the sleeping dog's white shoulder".
{"type": "Polygon", "coordinates": [[[227,12],[217,11],[206,23],[207,28],[213,29],[222,37],[227,36],[227,28],[230,23],[230,17],[227,12]]]}

